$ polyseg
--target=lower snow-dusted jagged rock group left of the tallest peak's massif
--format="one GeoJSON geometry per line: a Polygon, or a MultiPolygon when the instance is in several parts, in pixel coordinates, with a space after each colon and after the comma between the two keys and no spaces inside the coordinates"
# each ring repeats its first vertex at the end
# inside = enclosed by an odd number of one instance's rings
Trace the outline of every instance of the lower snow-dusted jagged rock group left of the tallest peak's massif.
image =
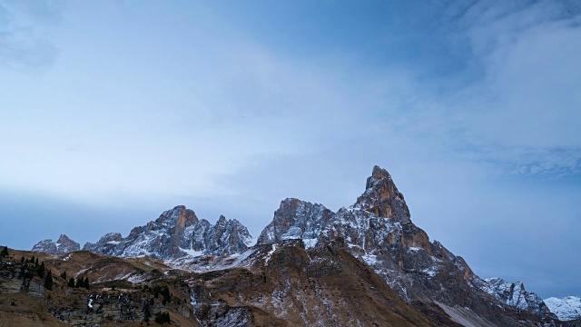
{"type": "Polygon", "coordinates": [[[105,234],[97,243],[86,243],[84,250],[106,255],[135,257],[149,255],[171,259],[187,254],[223,255],[245,250],[251,234],[237,220],[221,216],[215,225],[178,205],[154,222],[135,227],[126,238],[120,233],[105,234]]]}

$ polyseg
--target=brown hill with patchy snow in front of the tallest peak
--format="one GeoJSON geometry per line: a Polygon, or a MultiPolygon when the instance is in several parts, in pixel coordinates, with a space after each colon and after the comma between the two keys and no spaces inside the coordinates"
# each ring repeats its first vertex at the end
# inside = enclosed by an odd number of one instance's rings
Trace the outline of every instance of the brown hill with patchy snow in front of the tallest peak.
{"type": "MultiPolygon", "coordinates": [[[[457,326],[428,317],[334,242],[305,249],[300,240],[258,245],[231,268],[186,279],[194,316],[202,326],[457,326]]],[[[197,271],[231,260],[175,261],[197,271]]],[[[458,325],[459,326],[459,325],[458,325]]]]}

